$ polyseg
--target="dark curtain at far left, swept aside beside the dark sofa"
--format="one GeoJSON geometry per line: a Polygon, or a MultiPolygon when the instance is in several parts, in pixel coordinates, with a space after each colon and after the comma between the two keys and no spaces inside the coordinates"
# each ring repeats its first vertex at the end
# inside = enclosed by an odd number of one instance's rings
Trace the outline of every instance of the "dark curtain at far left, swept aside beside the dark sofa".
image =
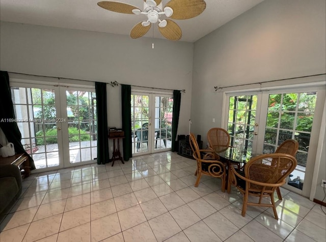
{"type": "Polygon", "coordinates": [[[2,122],[7,118],[15,118],[14,105],[11,99],[9,75],[6,71],[0,71],[0,128],[6,135],[8,142],[14,144],[15,153],[25,153],[30,159],[31,170],[35,169],[32,157],[27,154],[21,144],[21,133],[16,122],[2,122]]]}

